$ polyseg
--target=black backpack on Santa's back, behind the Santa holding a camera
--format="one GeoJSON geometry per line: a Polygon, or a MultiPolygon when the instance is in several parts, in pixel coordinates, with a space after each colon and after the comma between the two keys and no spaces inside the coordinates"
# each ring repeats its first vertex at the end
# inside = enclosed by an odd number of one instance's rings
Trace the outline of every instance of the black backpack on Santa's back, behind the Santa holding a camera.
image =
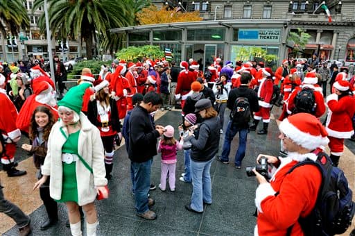
{"type": "Polygon", "coordinates": [[[293,114],[296,113],[309,113],[315,114],[315,96],[314,90],[309,87],[304,87],[300,92],[297,92],[295,97],[295,109],[293,114]]]}

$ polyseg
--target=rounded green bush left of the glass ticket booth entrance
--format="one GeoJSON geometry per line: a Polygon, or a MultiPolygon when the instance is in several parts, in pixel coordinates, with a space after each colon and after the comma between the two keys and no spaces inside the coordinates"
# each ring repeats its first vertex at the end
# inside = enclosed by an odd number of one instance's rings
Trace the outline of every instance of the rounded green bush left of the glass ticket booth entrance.
{"type": "Polygon", "coordinates": [[[132,60],[135,62],[139,58],[163,58],[164,51],[162,51],[159,46],[131,46],[117,52],[116,57],[121,60],[132,60]]]}

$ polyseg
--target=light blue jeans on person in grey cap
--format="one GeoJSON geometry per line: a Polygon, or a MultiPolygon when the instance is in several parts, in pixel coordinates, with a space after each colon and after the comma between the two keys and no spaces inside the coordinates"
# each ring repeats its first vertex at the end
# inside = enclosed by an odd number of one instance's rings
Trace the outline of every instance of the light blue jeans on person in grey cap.
{"type": "Polygon", "coordinates": [[[211,176],[209,169],[211,162],[196,162],[191,160],[191,174],[192,174],[192,196],[190,207],[197,212],[203,212],[203,203],[212,203],[212,187],[211,176]]]}

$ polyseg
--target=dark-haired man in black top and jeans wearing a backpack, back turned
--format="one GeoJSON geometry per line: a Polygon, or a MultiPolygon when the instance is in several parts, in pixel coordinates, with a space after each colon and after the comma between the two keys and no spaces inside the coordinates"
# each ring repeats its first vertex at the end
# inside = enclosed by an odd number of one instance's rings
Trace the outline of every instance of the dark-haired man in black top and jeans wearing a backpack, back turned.
{"type": "Polygon", "coordinates": [[[228,164],[229,161],[228,156],[230,155],[231,142],[234,136],[236,135],[236,133],[239,133],[239,146],[234,158],[234,164],[237,169],[241,169],[241,161],[245,156],[247,136],[249,133],[249,123],[248,120],[236,123],[232,117],[232,112],[234,110],[235,103],[239,102],[239,98],[248,99],[251,114],[252,112],[259,111],[257,92],[249,88],[251,80],[252,80],[252,76],[250,74],[243,73],[241,75],[241,86],[238,88],[234,88],[233,90],[230,91],[230,94],[228,96],[228,101],[227,101],[227,108],[230,108],[231,110],[230,122],[228,123],[225,132],[225,141],[223,144],[222,155],[220,157],[217,157],[217,160],[219,160],[220,162],[223,162],[224,164],[228,164]]]}

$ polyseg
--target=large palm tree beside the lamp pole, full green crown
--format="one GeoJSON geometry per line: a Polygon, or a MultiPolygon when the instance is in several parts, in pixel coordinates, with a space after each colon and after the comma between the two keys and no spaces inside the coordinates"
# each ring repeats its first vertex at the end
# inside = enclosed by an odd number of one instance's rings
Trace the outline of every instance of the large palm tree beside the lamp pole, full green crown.
{"type": "MultiPolygon", "coordinates": [[[[110,28],[131,26],[135,22],[132,0],[47,0],[49,3],[49,25],[53,35],[77,38],[86,43],[86,55],[92,59],[92,48],[96,34],[103,42],[110,28]]],[[[44,5],[36,0],[34,10],[44,5]]],[[[45,31],[44,15],[40,17],[41,31],[45,31]]]]}

